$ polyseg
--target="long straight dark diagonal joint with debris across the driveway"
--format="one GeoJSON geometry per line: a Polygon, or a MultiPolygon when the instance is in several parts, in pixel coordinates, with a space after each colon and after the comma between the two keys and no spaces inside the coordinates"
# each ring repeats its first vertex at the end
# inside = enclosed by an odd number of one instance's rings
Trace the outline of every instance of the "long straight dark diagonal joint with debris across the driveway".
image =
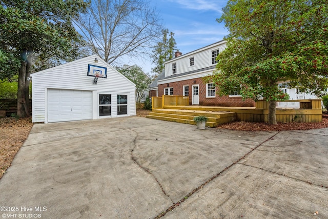
{"type": "Polygon", "coordinates": [[[242,159],[244,159],[247,155],[249,155],[250,153],[252,153],[254,150],[256,150],[258,147],[260,147],[262,144],[264,144],[265,142],[268,142],[269,140],[271,140],[273,137],[275,137],[280,131],[278,131],[277,133],[275,133],[274,135],[272,135],[271,137],[267,138],[267,140],[263,141],[261,144],[257,145],[254,148],[251,148],[251,150],[247,153],[245,153],[243,156],[241,156],[237,161],[235,161],[234,163],[232,163],[231,165],[227,166],[226,168],[224,168],[223,170],[221,170],[221,172],[215,174],[214,176],[212,176],[211,178],[209,178],[209,180],[207,180],[205,183],[201,184],[200,186],[198,186],[197,188],[195,188],[194,190],[192,190],[191,192],[189,192],[185,197],[183,197],[180,201],[178,201],[177,203],[173,204],[171,207],[169,207],[168,209],[166,209],[165,211],[162,211],[160,214],[158,214],[154,219],[158,219],[162,216],[165,216],[169,211],[172,211],[174,208],[176,208],[177,206],[179,206],[182,202],[185,202],[191,195],[193,195],[194,193],[196,193],[197,191],[199,191],[200,189],[202,189],[204,186],[206,186],[208,183],[210,183],[211,181],[213,181],[215,178],[217,178],[218,176],[220,176],[223,172],[226,172],[228,169],[230,169],[231,167],[235,166],[237,163],[239,163],[242,159]]]}

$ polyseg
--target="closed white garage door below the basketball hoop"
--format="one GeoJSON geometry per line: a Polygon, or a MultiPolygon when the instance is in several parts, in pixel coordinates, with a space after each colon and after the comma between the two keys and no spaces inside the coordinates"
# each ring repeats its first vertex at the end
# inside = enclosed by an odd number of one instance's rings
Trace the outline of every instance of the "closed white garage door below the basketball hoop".
{"type": "Polygon", "coordinates": [[[92,119],[92,91],[48,89],[48,122],[92,119]]]}

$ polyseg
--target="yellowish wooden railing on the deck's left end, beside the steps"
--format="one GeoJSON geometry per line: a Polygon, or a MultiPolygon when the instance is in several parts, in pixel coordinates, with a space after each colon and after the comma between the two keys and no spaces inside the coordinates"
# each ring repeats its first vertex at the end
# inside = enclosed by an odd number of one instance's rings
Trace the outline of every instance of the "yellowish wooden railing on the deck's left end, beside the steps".
{"type": "Polygon", "coordinates": [[[152,96],[152,109],[161,109],[165,106],[188,106],[188,96],[162,95],[161,97],[152,96]]]}

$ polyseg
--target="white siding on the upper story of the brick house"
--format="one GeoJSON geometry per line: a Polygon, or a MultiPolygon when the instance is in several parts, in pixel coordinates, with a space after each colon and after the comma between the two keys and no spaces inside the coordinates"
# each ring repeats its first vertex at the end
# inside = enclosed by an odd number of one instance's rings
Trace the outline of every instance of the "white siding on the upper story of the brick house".
{"type": "MultiPolygon", "coordinates": [[[[226,48],[226,42],[221,41],[216,44],[204,47],[185,55],[173,58],[165,63],[165,77],[172,75],[172,63],[176,63],[176,74],[181,74],[197,69],[207,68],[212,65],[212,51],[219,49],[219,52],[226,48]],[[190,66],[189,58],[194,57],[194,65],[190,66]]],[[[214,64],[215,65],[215,64],[214,64]]]]}

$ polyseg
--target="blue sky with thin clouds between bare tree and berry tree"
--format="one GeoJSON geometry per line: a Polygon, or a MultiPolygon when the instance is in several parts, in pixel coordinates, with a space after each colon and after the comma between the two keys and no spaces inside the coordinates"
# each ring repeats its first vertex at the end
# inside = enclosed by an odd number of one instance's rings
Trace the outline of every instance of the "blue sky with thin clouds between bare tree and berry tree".
{"type": "MultiPolygon", "coordinates": [[[[174,32],[177,48],[186,54],[201,47],[213,44],[228,34],[224,24],[216,18],[222,14],[222,8],[228,0],[151,0],[163,26],[174,32]]],[[[151,73],[151,60],[147,58],[131,61],[146,73],[151,73]]]]}

